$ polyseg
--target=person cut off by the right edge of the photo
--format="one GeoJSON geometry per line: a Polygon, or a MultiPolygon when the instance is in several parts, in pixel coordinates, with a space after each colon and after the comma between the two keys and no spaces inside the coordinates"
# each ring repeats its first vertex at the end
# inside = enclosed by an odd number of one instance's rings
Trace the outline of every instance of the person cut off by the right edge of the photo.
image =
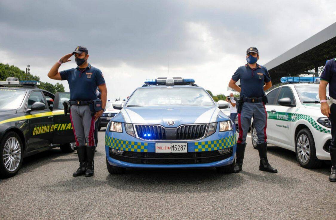
{"type": "Polygon", "coordinates": [[[328,60],[320,77],[319,97],[321,113],[331,122],[331,142],[329,146],[331,158],[330,182],[336,182],[336,58],[328,60]],[[330,100],[327,101],[327,85],[329,84],[330,100]]]}

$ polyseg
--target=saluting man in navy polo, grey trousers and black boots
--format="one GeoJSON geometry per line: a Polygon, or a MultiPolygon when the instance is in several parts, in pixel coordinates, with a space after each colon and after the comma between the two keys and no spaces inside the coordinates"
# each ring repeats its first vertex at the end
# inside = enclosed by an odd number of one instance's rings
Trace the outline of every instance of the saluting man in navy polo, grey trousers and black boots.
{"type": "MultiPolygon", "coordinates": [[[[55,80],[67,80],[70,88],[70,119],[76,140],[79,168],[73,176],[93,176],[94,174],[94,124],[102,115],[106,106],[107,89],[101,71],[87,61],[88,50],[78,46],[75,51],[60,58],[50,69],[48,77],[55,80]],[[69,62],[75,55],[76,68],[58,72],[62,63],[69,62]],[[97,99],[97,87],[101,100],[97,99]]],[[[66,111],[65,106],[65,113],[66,111]]]]}

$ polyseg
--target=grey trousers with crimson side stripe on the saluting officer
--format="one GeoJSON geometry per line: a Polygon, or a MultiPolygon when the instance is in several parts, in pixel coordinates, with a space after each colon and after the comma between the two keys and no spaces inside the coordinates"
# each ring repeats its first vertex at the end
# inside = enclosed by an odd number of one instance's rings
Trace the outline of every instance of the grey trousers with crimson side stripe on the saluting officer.
{"type": "Polygon", "coordinates": [[[71,105],[70,119],[74,128],[76,146],[94,146],[94,116],[89,105],[71,105]]]}

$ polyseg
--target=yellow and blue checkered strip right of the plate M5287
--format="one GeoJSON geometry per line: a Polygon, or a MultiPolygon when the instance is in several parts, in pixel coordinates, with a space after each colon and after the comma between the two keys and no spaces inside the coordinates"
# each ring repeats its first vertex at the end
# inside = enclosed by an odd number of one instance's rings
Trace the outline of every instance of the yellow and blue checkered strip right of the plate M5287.
{"type": "Polygon", "coordinates": [[[195,152],[220,150],[232,147],[236,143],[237,143],[236,134],[217,140],[195,142],[195,152]]]}

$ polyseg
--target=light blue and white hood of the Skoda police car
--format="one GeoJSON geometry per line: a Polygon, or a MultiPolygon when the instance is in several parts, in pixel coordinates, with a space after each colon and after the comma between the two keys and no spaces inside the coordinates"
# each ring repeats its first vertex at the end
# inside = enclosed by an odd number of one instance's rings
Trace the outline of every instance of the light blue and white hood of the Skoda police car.
{"type": "Polygon", "coordinates": [[[133,124],[159,124],[164,127],[178,127],[182,124],[200,124],[228,120],[218,107],[208,106],[150,106],[125,107],[113,121],[133,124]],[[174,121],[169,126],[168,121],[174,121]]]}

